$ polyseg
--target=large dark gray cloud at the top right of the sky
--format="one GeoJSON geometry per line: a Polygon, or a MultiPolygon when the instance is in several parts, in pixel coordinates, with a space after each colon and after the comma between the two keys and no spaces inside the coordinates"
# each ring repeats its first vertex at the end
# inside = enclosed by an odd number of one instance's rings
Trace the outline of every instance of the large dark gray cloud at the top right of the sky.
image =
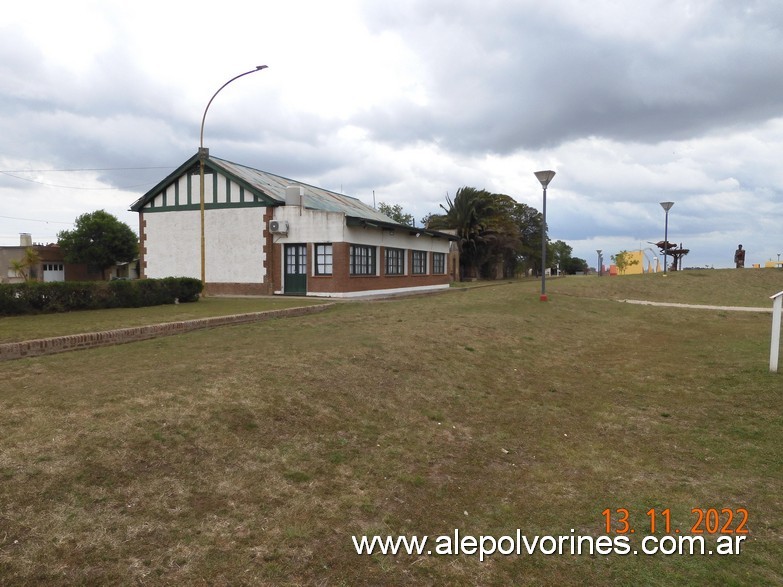
{"type": "Polygon", "coordinates": [[[771,2],[713,4],[687,26],[650,23],[662,34],[682,27],[665,43],[623,34],[624,22],[597,34],[525,2],[366,10],[376,31],[413,47],[432,99],[368,111],[362,123],[379,140],[426,133],[459,151],[509,153],[585,136],[685,139],[783,113],[783,77],[771,75],[783,68],[783,16],[771,2]]]}

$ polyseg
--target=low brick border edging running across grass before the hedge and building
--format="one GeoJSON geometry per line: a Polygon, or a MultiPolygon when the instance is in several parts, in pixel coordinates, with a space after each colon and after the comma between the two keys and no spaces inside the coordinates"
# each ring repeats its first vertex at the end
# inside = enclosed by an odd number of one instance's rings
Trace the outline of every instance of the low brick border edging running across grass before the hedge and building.
{"type": "Polygon", "coordinates": [[[251,312],[249,314],[230,314],[228,316],[213,316],[211,318],[198,318],[196,320],[182,320],[179,322],[165,322],[162,324],[149,324],[146,326],[134,326],[131,328],[118,328],[102,332],[85,332],[82,334],[69,334],[66,336],[53,336],[22,342],[7,342],[0,344],[0,361],[24,359],[28,357],[40,357],[82,349],[93,349],[103,346],[112,346],[149,340],[160,336],[172,336],[184,334],[194,330],[213,328],[216,326],[229,326],[232,324],[248,324],[250,322],[262,322],[273,318],[289,318],[323,312],[334,303],[315,304],[312,306],[300,306],[298,308],[285,308],[282,310],[267,310],[265,312],[251,312]]]}

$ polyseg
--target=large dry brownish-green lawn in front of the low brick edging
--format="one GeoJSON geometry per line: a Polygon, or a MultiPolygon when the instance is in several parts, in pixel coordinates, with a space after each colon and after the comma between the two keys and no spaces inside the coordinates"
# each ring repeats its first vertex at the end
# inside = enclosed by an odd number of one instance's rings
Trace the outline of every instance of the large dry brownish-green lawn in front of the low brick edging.
{"type": "Polygon", "coordinates": [[[774,270],[698,273],[0,363],[0,584],[779,585],[770,315],[611,301],[771,306],[783,289],[774,270]],[[658,538],[664,510],[690,536],[694,508],[731,510],[727,532],[747,510],[741,553],[641,553],[646,512],[658,538]],[[621,509],[638,555],[360,556],[351,539],[598,537],[606,510],[617,538],[621,509]]]}

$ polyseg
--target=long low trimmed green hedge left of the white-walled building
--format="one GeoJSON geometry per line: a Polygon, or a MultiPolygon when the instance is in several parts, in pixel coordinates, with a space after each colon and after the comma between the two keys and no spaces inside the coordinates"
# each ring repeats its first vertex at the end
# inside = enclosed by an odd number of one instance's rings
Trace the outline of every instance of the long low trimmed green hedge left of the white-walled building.
{"type": "Polygon", "coordinates": [[[0,284],[0,316],[195,302],[202,289],[201,281],[191,277],[4,283],[0,284]]]}

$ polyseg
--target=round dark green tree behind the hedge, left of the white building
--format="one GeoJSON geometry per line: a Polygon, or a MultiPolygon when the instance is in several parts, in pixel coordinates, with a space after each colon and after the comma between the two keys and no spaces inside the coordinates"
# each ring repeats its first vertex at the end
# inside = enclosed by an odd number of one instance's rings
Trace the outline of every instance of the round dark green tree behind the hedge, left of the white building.
{"type": "Polygon", "coordinates": [[[57,240],[67,262],[100,269],[104,279],[109,267],[133,261],[139,252],[131,227],[105,210],[82,214],[73,230],[57,233],[57,240]]]}

